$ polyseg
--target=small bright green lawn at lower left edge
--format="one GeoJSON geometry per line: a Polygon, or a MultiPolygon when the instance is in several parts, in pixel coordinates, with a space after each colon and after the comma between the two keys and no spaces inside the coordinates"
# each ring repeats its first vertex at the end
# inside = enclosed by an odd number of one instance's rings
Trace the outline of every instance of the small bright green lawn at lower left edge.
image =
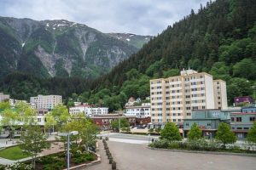
{"type": "Polygon", "coordinates": [[[28,156],[23,154],[19,146],[14,146],[14,147],[9,147],[7,149],[0,150],[0,157],[9,159],[9,160],[19,160],[22,158],[26,158],[28,156]]]}

